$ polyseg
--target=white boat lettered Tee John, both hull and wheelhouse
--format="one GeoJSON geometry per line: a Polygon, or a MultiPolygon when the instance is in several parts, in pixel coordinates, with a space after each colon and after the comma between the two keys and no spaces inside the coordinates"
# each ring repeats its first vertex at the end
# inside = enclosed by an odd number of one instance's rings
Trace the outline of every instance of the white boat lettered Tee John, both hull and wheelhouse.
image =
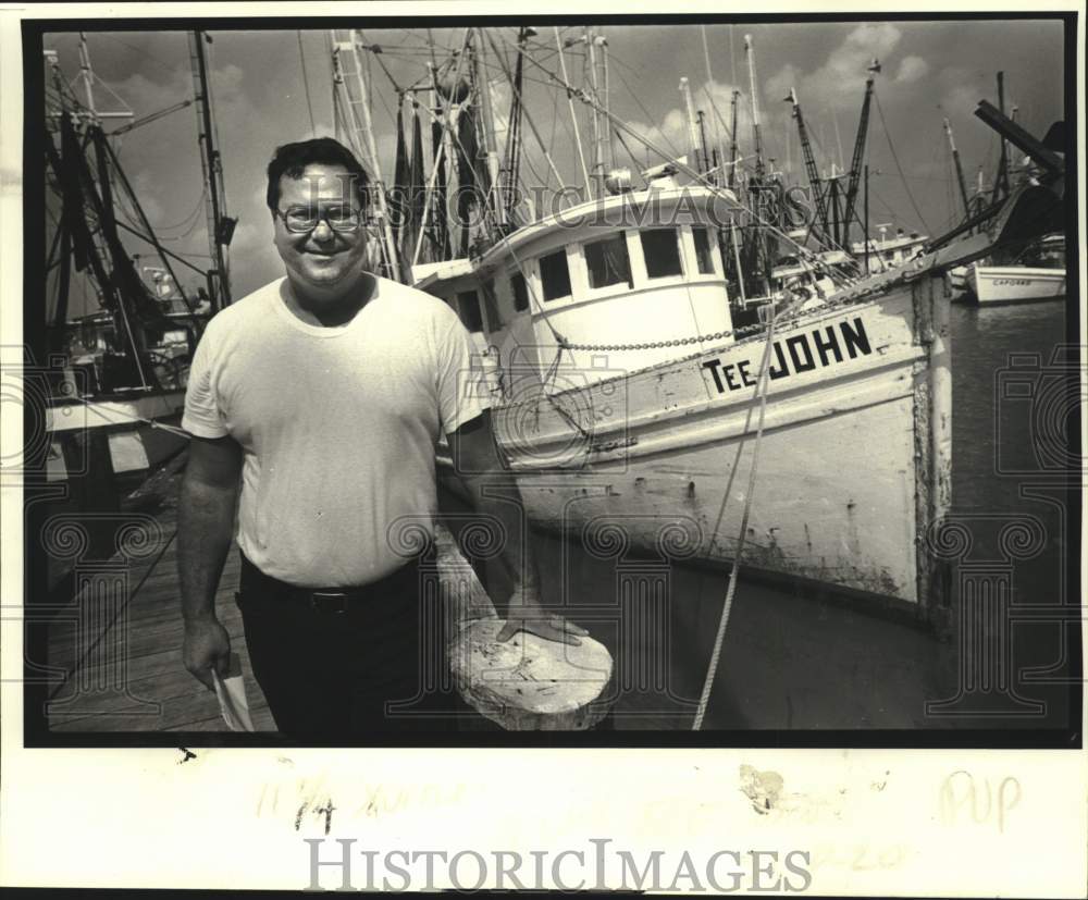
{"type": "MultiPolygon", "coordinates": [[[[496,431],[530,518],[591,551],[735,556],[766,329],[732,328],[710,231],[725,194],[583,204],[417,282],[490,350],[496,431]]],[[[943,283],[904,270],[870,298],[780,313],[746,566],[919,612],[935,602],[926,534],[951,467],[943,283]]],[[[448,477],[448,458],[440,467],[448,477]]]]}

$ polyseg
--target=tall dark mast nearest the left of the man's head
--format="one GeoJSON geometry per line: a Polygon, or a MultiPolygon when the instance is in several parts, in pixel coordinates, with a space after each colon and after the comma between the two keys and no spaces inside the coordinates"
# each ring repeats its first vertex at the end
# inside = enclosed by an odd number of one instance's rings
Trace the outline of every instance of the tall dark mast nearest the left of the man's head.
{"type": "Polygon", "coordinates": [[[228,269],[226,247],[234,235],[237,220],[226,214],[226,190],[223,186],[223,165],[215,147],[215,124],[212,119],[211,94],[208,88],[208,60],[205,53],[205,41],[211,42],[206,32],[189,33],[189,53],[193,63],[193,82],[196,88],[197,121],[200,126],[200,167],[203,171],[205,188],[208,190],[208,205],[205,207],[208,219],[208,249],[215,263],[215,278],[209,279],[209,287],[218,288],[211,292],[209,299],[213,311],[228,306],[231,303],[231,272],[228,269]]]}

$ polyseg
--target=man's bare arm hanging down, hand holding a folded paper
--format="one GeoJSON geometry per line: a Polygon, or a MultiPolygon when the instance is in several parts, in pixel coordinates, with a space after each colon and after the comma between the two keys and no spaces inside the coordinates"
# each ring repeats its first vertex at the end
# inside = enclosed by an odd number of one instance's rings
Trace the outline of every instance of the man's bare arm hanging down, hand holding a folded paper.
{"type": "Polygon", "coordinates": [[[208,688],[224,676],[231,639],[215,617],[215,591],[234,535],[242,447],[232,437],[193,437],[177,508],[185,667],[208,688]]]}

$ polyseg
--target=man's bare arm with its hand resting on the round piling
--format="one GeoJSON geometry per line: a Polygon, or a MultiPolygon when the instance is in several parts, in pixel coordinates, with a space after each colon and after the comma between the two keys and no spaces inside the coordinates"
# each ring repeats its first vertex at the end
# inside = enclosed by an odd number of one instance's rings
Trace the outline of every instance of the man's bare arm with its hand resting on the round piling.
{"type": "Polygon", "coordinates": [[[584,628],[562,616],[549,615],[541,606],[540,580],[517,481],[495,441],[491,411],[461,424],[446,435],[454,472],[465,486],[472,508],[494,517],[503,529],[502,560],[514,582],[507,601],[506,625],[498,640],[509,640],[518,631],[529,631],[553,641],[578,644],[584,628]],[[523,531],[524,529],[524,531],[523,531]],[[520,539],[520,540],[519,540],[520,539]]]}

